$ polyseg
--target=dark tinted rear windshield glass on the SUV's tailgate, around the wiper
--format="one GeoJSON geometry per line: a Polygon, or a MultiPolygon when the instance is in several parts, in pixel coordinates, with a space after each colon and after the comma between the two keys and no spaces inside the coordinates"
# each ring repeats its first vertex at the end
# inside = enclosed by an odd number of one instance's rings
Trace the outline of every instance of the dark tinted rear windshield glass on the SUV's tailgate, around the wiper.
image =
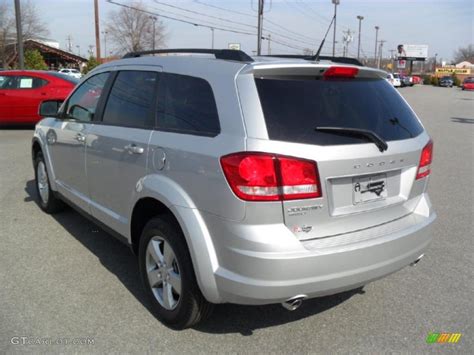
{"type": "Polygon", "coordinates": [[[368,129],[386,141],[413,138],[423,131],[413,111],[383,79],[285,76],[256,78],[255,82],[272,140],[366,143],[363,137],[316,132],[316,127],[368,129]]]}

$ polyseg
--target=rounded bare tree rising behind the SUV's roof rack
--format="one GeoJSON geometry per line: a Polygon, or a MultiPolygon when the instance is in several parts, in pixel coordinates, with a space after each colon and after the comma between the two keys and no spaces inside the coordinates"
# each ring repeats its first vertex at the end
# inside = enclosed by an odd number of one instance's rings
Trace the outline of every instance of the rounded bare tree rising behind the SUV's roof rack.
{"type": "Polygon", "coordinates": [[[156,16],[147,13],[141,1],[110,13],[106,31],[117,53],[158,49],[165,45],[165,26],[156,16]]]}

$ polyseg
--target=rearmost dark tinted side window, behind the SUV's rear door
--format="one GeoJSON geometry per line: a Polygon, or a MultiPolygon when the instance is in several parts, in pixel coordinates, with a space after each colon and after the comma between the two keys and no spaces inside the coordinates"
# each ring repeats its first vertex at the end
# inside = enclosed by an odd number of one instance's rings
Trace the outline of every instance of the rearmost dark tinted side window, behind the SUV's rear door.
{"type": "Polygon", "coordinates": [[[163,73],[159,86],[159,128],[206,136],[220,133],[216,101],[206,80],[163,73]]]}

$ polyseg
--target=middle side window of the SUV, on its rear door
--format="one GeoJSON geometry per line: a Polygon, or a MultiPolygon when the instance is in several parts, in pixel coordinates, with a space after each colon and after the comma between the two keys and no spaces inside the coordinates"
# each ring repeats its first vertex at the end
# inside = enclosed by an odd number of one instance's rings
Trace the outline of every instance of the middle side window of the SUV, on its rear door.
{"type": "Polygon", "coordinates": [[[153,128],[152,106],[157,80],[156,72],[119,72],[107,99],[103,122],[118,126],[153,128]]]}

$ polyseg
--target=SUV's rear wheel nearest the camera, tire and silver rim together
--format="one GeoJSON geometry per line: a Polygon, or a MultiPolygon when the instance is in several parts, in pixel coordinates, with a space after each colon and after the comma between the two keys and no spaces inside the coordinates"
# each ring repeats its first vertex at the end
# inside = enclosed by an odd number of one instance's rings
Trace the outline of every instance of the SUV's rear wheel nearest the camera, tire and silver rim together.
{"type": "Polygon", "coordinates": [[[152,218],[143,229],[140,274],[156,317],[173,329],[207,318],[212,304],[202,295],[181,228],[170,216],[152,218]]]}

